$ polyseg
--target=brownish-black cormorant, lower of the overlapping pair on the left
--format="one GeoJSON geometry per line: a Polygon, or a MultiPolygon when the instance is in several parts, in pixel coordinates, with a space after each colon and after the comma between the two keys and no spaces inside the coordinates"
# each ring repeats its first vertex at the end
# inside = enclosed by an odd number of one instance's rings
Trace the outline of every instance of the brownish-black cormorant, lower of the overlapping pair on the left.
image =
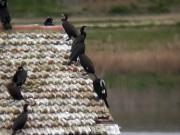
{"type": "Polygon", "coordinates": [[[7,84],[8,93],[14,100],[24,100],[24,97],[21,94],[21,88],[16,85],[14,82],[7,84]]]}

